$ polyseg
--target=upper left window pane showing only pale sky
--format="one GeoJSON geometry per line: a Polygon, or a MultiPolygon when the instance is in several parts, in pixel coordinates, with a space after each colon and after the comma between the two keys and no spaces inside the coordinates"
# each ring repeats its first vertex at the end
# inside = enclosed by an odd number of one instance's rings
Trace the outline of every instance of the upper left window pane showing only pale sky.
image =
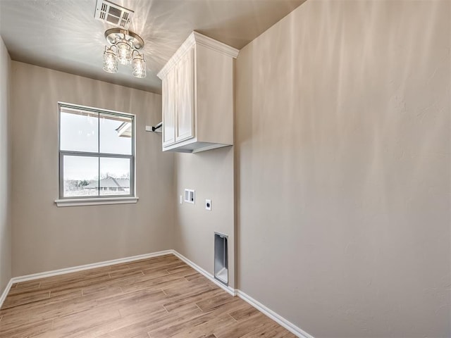
{"type": "Polygon", "coordinates": [[[60,149],[99,151],[99,118],[97,113],[61,107],[60,149]]]}

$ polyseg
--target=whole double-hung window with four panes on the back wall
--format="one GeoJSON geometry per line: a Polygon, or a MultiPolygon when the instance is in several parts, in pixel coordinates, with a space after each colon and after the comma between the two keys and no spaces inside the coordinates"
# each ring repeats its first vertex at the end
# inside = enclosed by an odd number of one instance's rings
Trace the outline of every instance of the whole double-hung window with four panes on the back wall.
{"type": "Polygon", "coordinates": [[[134,197],[135,116],[70,104],[58,106],[58,201],[134,197]]]}

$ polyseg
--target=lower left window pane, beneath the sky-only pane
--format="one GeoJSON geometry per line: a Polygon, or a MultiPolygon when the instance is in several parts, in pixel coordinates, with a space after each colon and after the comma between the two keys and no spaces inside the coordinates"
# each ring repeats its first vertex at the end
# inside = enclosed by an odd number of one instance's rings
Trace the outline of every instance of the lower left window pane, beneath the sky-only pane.
{"type": "Polygon", "coordinates": [[[63,196],[97,196],[99,194],[99,158],[64,156],[63,196]]]}

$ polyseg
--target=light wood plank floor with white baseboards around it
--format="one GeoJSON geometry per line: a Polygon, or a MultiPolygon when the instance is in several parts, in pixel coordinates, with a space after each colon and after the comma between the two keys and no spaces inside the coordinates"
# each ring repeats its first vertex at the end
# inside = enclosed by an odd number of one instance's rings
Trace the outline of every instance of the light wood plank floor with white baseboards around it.
{"type": "Polygon", "coordinates": [[[1,338],[295,337],[173,255],[13,284],[1,338]]]}

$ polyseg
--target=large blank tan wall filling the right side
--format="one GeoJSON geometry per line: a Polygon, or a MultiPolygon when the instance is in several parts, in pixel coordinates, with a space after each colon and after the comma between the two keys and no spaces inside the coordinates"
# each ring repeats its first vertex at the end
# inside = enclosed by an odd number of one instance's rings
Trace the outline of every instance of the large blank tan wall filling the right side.
{"type": "Polygon", "coordinates": [[[450,337],[450,1],[309,0],[237,59],[238,287],[314,337],[450,337]]]}

